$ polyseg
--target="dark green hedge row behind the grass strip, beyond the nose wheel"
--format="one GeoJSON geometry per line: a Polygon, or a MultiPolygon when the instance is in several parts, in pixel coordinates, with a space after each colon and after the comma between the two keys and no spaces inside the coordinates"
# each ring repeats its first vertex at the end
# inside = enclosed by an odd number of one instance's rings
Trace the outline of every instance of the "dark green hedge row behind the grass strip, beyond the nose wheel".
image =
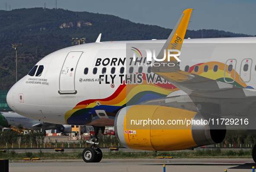
{"type": "MultiPolygon", "coordinates": [[[[99,138],[99,147],[123,147],[115,135],[103,135],[99,138]]],[[[227,135],[215,147],[253,147],[256,143],[255,135],[227,135]]],[[[78,142],[45,141],[45,133],[32,131],[29,134],[19,134],[15,131],[0,131],[0,148],[54,148],[54,147],[87,147],[86,140],[78,142]]]]}

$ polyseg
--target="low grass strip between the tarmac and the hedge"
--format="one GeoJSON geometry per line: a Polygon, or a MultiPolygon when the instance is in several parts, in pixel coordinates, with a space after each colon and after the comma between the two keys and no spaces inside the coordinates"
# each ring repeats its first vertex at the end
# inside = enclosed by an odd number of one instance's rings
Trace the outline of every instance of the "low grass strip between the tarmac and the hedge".
{"type": "MultiPolygon", "coordinates": [[[[136,158],[156,158],[156,156],[172,156],[173,158],[252,158],[252,150],[221,150],[221,149],[200,149],[194,151],[164,151],[164,152],[124,152],[109,151],[103,152],[104,159],[136,159],[136,158]]],[[[23,160],[23,158],[40,159],[82,159],[82,152],[43,152],[38,153],[16,153],[14,150],[0,152],[0,159],[23,160]]]]}

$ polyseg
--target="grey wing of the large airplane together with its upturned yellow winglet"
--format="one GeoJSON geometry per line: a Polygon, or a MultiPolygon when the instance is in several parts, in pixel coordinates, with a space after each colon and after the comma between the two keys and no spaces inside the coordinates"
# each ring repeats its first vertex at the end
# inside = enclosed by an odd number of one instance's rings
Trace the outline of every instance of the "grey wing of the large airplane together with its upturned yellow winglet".
{"type": "MultiPolygon", "coordinates": [[[[188,108],[192,107],[192,102],[202,114],[253,116],[253,112],[256,110],[256,90],[239,88],[179,69],[179,62],[175,57],[178,57],[178,51],[182,53],[182,39],[187,29],[190,14],[191,9],[183,12],[183,16],[179,19],[172,34],[156,58],[158,61],[164,59],[162,65],[153,65],[151,71],[188,94],[175,98],[175,101],[179,100],[181,102],[181,100],[184,100],[184,103],[189,98],[191,101],[188,108]],[[175,49],[175,51],[172,52],[170,49],[175,49]]],[[[165,99],[165,102],[168,102],[168,106],[177,106],[177,103],[173,105],[174,103],[172,103],[171,99],[170,97],[165,99]]],[[[191,110],[195,111],[195,109],[191,110]]]]}

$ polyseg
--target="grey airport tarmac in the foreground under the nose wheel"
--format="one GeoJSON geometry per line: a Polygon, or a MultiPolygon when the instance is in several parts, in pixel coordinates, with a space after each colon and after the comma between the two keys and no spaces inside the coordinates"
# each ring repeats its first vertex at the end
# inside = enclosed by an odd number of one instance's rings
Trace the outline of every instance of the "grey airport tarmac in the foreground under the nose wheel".
{"type": "Polygon", "coordinates": [[[9,163],[9,172],[252,172],[253,159],[102,159],[9,163]]]}

